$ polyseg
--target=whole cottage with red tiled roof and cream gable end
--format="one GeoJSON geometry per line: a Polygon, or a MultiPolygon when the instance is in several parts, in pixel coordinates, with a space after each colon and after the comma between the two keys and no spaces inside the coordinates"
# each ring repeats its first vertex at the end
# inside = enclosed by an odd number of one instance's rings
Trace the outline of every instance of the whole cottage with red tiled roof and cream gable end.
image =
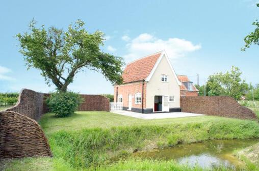
{"type": "Polygon", "coordinates": [[[141,113],[180,111],[180,86],[166,52],[150,54],[126,65],[123,83],[114,85],[114,102],[141,113]]]}

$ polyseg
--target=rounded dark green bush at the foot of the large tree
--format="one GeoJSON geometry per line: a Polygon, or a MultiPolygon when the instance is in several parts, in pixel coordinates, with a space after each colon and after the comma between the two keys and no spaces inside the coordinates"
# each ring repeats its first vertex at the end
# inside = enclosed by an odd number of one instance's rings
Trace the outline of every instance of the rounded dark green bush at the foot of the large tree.
{"type": "Polygon", "coordinates": [[[81,96],[73,92],[53,93],[46,99],[50,111],[57,117],[70,116],[82,102],[81,96]]]}

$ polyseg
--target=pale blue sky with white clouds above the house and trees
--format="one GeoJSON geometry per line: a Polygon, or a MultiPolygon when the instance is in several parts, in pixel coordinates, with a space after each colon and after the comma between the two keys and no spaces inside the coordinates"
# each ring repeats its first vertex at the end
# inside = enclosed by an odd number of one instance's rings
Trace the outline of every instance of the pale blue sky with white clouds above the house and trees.
{"type": "MultiPolygon", "coordinates": [[[[0,92],[48,87],[40,71],[27,70],[15,34],[39,24],[67,29],[81,19],[86,29],[106,34],[103,51],[125,62],[165,49],[177,74],[200,83],[232,65],[247,82],[259,83],[259,48],[240,50],[258,18],[257,1],[2,1],[0,3],[0,92]]],[[[94,71],[79,73],[69,90],[84,94],[113,93],[112,84],[94,71]]]]}

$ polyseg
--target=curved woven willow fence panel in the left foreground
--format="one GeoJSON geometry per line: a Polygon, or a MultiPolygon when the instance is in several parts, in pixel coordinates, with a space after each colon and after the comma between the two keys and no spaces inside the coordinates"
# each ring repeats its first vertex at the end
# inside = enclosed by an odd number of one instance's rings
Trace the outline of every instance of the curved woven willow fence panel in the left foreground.
{"type": "Polygon", "coordinates": [[[51,156],[39,124],[13,111],[0,111],[0,158],[51,156]]]}

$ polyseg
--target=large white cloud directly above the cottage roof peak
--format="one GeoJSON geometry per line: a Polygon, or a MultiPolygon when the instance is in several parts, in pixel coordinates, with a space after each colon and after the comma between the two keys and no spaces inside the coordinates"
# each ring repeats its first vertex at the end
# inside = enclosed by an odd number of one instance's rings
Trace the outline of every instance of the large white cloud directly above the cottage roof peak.
{"type": "Polygon", "coordinates": [[[123,57],[126,62],[130,62],[163,49],[165,49],[170,59],[177,59],[180,56],[184,56],[187,52],[200,49],[201,45],[194,45],[188,40],[179,38],[162,40],[151,34],[144,33],[128,42],[126,48],[128,53],[123,57]]]}

